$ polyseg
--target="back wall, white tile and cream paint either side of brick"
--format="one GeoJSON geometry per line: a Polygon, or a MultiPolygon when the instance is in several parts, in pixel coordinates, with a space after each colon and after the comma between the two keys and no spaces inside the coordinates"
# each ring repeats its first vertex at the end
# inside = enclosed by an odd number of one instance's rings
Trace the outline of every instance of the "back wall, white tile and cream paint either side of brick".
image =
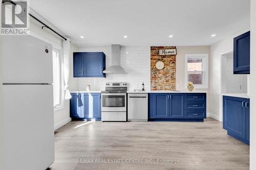
{"type": "MultiPolygon", "coordinates": [[[[111,65],[111,46],[79,47],[79,52],[104,52],[106,67],[111,65]]],[[[121,66],[128,72],[126,75],[106,75],[106,78],[76,78],[78,90],[86,90],[91,85],[92,91],[102,91],[105,82],[128,82],[129,90],[140,88],[144,82],[146,91],[150,91],[150,46],[121,46],[121,66]],[[128,52],[129,54],[126,54],[128,52]]],[[[210,54],[210,46],[177,46],[176,83],[177,89],[184,90],[185,54],[210,54]]],[[[210,55],[209,55],[210,58],[210,55]]],[[[208,91],[208,89],[200,89],[208,91]]],[[[207,98],[207,111],[208,111],[207,98]]]]}

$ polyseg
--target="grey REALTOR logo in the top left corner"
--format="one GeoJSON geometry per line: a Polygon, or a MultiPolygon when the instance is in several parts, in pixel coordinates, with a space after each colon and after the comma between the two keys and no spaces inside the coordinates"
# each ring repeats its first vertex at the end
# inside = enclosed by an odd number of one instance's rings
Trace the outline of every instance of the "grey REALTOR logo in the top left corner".
{"type": "Polygon", "coordinates": [[[28,2],[2,0],[1,35],[28,33],[28,2]]]}

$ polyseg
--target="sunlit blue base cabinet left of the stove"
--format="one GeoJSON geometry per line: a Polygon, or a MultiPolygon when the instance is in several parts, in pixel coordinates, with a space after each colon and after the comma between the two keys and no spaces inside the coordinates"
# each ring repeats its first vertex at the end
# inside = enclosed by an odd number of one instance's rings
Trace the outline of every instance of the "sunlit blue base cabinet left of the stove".
{"type": "Polygon", "coordinates": [[[72,119],[101,119],[100,93],[71,93],[70,117],[72,119]]]}

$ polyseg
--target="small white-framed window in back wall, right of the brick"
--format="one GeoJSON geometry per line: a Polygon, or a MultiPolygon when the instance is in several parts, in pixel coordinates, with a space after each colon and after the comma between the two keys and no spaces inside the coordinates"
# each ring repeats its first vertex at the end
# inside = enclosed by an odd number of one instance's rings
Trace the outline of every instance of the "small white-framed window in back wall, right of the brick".
{"type": "Polygon", "coordinates": [[[187,82],[195,88],[208,88],[208,54],[185,55],[185,87],[187,82]]]}

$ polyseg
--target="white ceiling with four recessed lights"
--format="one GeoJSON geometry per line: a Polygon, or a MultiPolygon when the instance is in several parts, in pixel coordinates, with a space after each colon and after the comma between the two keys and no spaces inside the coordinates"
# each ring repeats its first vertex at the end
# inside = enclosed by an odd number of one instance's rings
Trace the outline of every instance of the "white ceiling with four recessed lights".
{"type": "Polygon", "coordinates": [[[250,0],[31,0],[30,6],[78,46],[210,45],[250,25],[250,0]]]}

